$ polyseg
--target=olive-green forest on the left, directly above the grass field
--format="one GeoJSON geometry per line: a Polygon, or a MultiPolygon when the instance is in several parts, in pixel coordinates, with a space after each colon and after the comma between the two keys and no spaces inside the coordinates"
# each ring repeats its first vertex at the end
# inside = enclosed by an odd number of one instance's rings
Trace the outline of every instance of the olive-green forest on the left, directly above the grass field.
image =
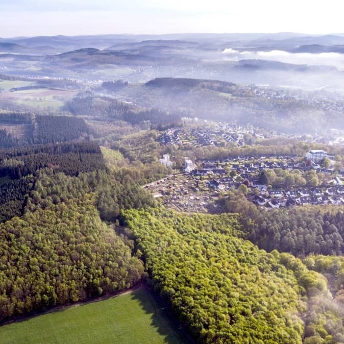
{"type": "Polygon", "coordinates": [[[116,235],[109,221],[120,209],[152,207],[154,200],[130,177],[120,178],[106,170],[78,177],[36,171],[22,214],[0,225],[0,321],[113,294],[143,278],[132,240],[116,235]]]}

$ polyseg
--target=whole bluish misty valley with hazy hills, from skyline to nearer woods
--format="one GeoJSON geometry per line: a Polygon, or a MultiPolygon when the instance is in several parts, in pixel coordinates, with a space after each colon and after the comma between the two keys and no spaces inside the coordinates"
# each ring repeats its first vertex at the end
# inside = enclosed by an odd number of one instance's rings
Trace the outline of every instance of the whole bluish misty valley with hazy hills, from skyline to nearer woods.
{"type": "Polygon", "coordinates": [[[0,71],[35,81],[33,87],[73,80],[65,82],[68,90],[86,87],[96,97],[134,102],[178,113],[180,118],[225,120],[298,134],[344,129],[342,36],[42,36],[0,43],[0,71]],[[181,81],[169,88],[168,83],[149,83],[156,78],[200,82],[181,81]],[[116,80],[126,86],[101,88],[103,82],[116,80]],[[201,82],[211,80],[218,86],[201,82]],[[226,82],[235,86],[227,87],[226,82]]]}

